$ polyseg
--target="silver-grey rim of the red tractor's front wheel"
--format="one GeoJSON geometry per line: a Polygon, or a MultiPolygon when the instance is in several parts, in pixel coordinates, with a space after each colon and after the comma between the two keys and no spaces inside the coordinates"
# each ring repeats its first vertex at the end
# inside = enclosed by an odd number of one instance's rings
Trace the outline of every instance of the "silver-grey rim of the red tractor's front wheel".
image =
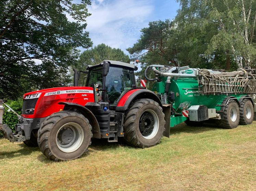
{"type": "Polygon", "coordinates": [[[74,152],[83,143],[84,131],[77,123],[64,124],[56,134],[56,144],[63,152],[74,152]]]}

